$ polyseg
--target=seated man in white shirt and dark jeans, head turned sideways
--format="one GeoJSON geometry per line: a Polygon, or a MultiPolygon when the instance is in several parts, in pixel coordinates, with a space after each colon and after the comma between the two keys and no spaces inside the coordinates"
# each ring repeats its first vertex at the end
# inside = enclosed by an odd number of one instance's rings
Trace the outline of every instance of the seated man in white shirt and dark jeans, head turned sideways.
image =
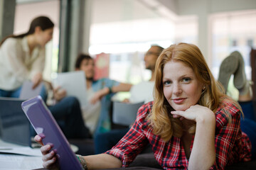
{"type": "MultiPolygon", "coordinates": [[[[148,103],[149,101],[154,100],[154,69],[156,60],[163,50],[164,48],[159,45],[151,45],[144,55],[145,68],[151,70],[151,79],[132,86],[130,90],[131,97],[129,99],[125,99],[124,102],[137,103],[144,101],[144,103],[148,103]]],[[[115,129],[110,132],[97,134],[95,136],[95,153],[101,154],[111,149],[128,132],[128,130],[129,128],[115,129]]]]}

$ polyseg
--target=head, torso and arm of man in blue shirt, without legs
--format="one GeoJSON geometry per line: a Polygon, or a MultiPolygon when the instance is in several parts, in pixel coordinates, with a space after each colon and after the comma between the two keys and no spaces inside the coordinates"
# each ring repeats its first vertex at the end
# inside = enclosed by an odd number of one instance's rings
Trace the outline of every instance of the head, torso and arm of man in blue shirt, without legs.
{"type": "Polygon", "coordinates": [[[95,62],[89,55],[80,54],[75,62],[77,71],[85,72],[87,103],[82,118],[92,135],[110,130],[111,97],[119,91],[129,91],[132,84],[103,78],[95,80],[95,62]]]}

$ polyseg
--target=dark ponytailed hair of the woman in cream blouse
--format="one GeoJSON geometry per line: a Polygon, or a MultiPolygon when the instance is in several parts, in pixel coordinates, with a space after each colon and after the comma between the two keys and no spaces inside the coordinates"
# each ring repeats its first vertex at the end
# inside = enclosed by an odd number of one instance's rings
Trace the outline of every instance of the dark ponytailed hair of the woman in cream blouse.
{"type": "Polygon", "coordinates": [[[41,28],[41,30],[47,30],[49,28],[53,28],[54,23],[47,16],[38,16],[38,17],[34,18],[33,21],[31,21],[31,25],[29,27],[28,32],[20,34],[20,35],[7,36],[3,40],[1,40],[0,47],[7,38],[23,38],[26,35],[31,35],[31,34],[35,33],[36,27],[38,27],[38,26],[41,28]]]}

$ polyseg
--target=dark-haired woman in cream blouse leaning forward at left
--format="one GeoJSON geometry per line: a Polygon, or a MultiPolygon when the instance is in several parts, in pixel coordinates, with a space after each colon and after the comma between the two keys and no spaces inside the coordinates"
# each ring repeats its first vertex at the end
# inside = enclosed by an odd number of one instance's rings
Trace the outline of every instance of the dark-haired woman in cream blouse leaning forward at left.
{"type": "Polygon", "coordinates": [[[54,23],[46,16],[34,18],[27,33],[10,35],[0,44],[0,96],[19,97],[27,79],[36,88],[43,79],[45,46],[53,38],[54,23]]]}

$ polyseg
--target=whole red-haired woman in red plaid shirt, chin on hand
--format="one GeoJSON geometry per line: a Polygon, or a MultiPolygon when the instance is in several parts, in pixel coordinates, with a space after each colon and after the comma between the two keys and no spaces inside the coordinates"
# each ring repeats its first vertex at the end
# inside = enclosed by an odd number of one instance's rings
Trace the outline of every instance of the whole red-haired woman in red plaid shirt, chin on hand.
{"type": "MultiPolygon", "coordinates": [[[[85,169],[127,167],[148,144],[164,169],[225,169],[251,159],[250,140],[240,129],[240,106],[219,90],[196,45],[166,48],[155,75],[154,101],[139,108],[134,125],[112,149],[78,156],[85,169]]],[[[56,166],[50,148],[41,147],[46,168],[56,166]]]]}

